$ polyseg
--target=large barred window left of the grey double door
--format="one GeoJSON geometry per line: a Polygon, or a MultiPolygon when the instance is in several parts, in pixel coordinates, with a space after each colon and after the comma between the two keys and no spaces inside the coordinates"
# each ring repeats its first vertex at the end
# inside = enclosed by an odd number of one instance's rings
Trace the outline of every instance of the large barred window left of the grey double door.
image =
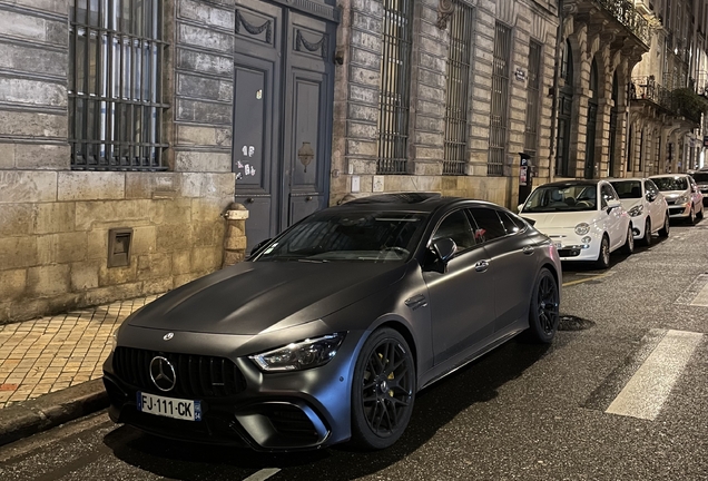
{"type": "Polygon", "coordinates": [[[160,0],[70,0],[71,168],[164,170],[160,0]]]}

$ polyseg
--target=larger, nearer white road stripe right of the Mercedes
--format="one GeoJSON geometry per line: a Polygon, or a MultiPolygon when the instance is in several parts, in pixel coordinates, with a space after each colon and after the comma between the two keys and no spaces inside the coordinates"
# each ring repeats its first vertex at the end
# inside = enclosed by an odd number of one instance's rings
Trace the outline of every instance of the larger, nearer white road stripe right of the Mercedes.
{"type": "Polygon", "coordinates": [[[701,338],[700,333],[668,331],[606,412],[655,420],[701,338]]]}

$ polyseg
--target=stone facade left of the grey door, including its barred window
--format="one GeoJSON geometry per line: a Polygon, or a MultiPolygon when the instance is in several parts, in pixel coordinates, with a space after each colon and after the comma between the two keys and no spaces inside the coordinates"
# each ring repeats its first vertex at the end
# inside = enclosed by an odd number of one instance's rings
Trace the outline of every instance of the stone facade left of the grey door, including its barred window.
{"type": "Polygon", "coordinates": [[[18,0],[0,13],[0,322],[220,267],[234,3],[18,0]]]}

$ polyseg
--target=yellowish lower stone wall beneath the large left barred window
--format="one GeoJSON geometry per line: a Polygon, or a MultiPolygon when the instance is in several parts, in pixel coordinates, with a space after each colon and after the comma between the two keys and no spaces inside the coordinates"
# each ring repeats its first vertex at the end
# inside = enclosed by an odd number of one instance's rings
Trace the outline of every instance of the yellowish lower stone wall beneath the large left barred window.
{"type": "Polygon", "coordinates": [[[0,323],[169,291],[220,268],[233,174],[0,170],[0,323]],[[132,228],[108,267],[108,232],[132,228]]]}

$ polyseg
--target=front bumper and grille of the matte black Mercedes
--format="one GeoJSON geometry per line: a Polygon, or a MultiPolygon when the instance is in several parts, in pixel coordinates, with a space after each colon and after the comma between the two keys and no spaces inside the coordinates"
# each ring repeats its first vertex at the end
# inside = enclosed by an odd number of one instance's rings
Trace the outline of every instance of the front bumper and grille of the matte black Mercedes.
{"type": "Polygon", "coordinates": [[[104,364],[108,413],[115,422],[159,436],[257,451],[307,450],[346,441],[351,436],[352,360],[356,359],[361,334],[350,332],[336,356],[324,366],[278,373],[263,373],[245,357],[218,356],[223,353],[201,356],[136,347],[126,356],[128,349],[118,347],[124,350],[120,355],[111,353],[104,364]],[[183,381],[174,392],[160,392],[150,381],[149,371],[145,372],[155,355],[165,356],[177,366],[177,376],[183,381]],[[132,361],[128,363],[127,357],[132,361]],[[233,374],[230,369],[224,375],[220,367],[215,367],[222,365],[222,360],[233,364],[233,374]],[[138,392],[200,401],[201,420],[140,412],[138,392]]]}

